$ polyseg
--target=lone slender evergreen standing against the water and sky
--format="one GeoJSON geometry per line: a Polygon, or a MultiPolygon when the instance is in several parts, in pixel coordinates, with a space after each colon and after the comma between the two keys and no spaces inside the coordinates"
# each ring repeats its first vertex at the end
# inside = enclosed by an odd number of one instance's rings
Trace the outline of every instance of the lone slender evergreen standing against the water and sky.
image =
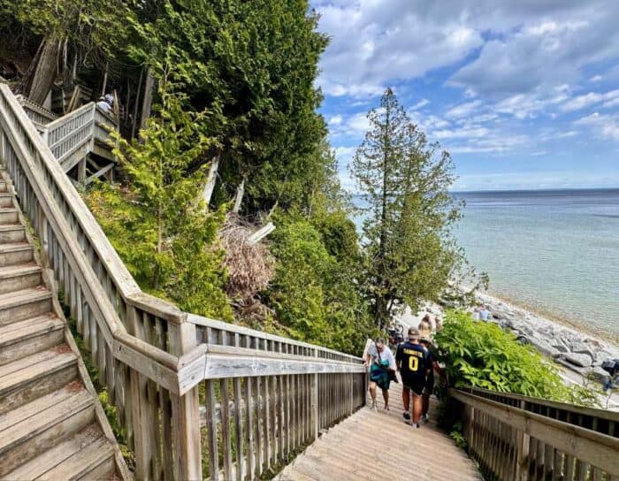
{"type": "Polygon", "coordinates": [[[374,321],[383,328],[404,303],[415,309],[436,299],[463,262],[450,236],[460,206],[447,192],[451,157],[427,141],[391,89],[368,118],[371,130],[355,152],[352,173],[368,205],[366,282],[374,321]]]}

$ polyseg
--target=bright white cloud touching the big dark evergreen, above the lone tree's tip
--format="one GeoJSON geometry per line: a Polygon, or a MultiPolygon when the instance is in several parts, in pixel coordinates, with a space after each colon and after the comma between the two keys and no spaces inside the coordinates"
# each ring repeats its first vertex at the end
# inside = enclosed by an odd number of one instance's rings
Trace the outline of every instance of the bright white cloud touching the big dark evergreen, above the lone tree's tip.
{"type": "Polygon", "coordinates": [[[386,84],[450,65],[483,44],[458,19],[420,15],[416,2],[316,2],[320,30],[332,38],[318,80],[327,95],[369,96],[386,84]]]}

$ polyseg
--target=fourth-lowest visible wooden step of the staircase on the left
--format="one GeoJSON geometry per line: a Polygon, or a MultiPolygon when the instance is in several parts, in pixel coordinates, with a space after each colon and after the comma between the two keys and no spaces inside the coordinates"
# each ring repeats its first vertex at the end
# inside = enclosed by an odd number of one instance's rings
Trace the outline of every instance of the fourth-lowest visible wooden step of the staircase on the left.
{"type": "Polygon", "coordinates": [[[0,365],[62,344],[65,323],[54,315],[31,317],[0,330],[0,365]]]}

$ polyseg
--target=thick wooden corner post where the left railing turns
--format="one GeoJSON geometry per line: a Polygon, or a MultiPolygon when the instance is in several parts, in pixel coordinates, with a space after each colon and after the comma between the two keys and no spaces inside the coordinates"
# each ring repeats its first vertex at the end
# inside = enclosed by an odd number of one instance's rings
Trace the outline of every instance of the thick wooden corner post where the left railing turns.
{"type": "MultiPolygon", "coordinates": [[[[180,357],[196,345],[195,324],[170,324],[172,355],[180,357]]],[[[171,393],[170,398],[174,479],[202,480],[198,386],[182,396],[171,393]]]]}

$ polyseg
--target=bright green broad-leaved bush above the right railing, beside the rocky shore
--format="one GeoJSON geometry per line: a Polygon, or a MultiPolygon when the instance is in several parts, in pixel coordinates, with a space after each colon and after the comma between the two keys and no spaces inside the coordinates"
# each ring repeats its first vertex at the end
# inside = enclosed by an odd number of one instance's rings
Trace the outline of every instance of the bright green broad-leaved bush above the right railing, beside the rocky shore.
{"type": "Polygon", "coordinates": [[[455,387],[476,386],[578,404],[592,404],[594,399],[585,388],[565,386],[554,365],[516,336],[496,324],[473,321],[467,313],[447,312],[436,341],[455,387]]]}

